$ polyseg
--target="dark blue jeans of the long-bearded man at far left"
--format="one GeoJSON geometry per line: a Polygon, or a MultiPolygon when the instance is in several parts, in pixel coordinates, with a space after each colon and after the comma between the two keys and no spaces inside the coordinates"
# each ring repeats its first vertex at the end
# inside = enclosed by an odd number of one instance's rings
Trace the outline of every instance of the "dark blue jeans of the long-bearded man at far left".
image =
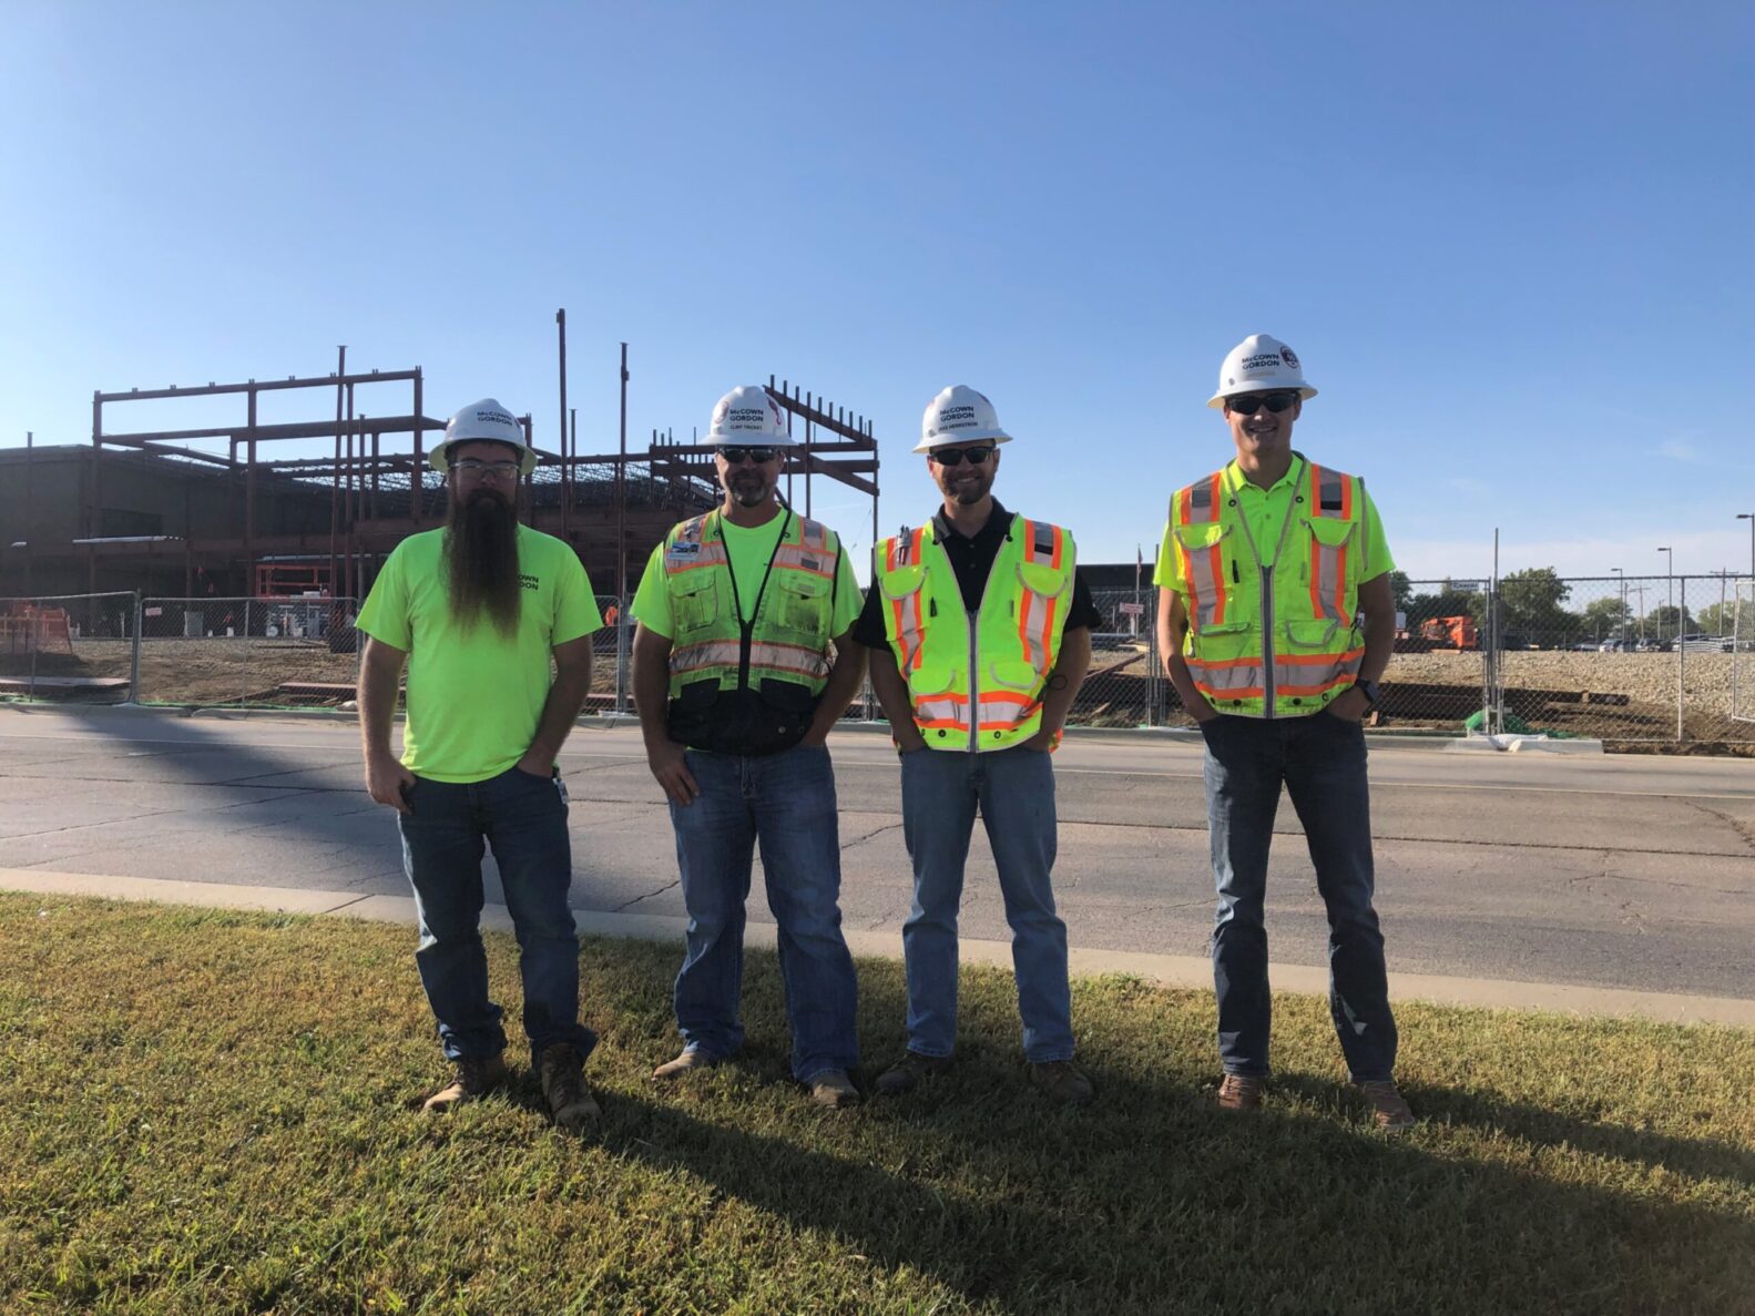
{"type": "Polygon", "coordinates": [[[488,844],[518,933],[532,1065],[555,1042],[588,1056],[597,1033],[579,1023],[579,937],[567,907],[572,848],[558,783],[514,767],[472,783],[416,777],[405,798],[411,812],[398,816],[402,869],[421,923],[414,962],[444,1053],[456,1060],[505,1049],[481,944],[481,856],[488,844]]]}

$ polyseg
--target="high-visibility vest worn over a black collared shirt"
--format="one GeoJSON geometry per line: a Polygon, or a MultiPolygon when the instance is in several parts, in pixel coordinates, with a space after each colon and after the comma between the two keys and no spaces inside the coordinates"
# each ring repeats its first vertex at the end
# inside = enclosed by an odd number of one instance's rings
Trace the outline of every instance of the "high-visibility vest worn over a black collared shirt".
{"type": "Polygon", "coordinates": [[[1007,749],[1041,730],[1076,556],[1071,532],[1013,516],[981,607],[969,612],[930,528],[878,544],[872,581],[883,593],[885,637],[930,747],[1007,749]]]}

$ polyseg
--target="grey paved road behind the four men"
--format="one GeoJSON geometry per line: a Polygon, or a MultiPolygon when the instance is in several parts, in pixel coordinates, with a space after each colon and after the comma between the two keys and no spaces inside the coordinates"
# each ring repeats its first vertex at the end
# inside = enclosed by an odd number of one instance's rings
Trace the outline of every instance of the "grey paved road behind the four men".
{"type": "MultiPolygon", "coordinates": [[[[893,932],[909,905],[895,755],[853,730],[832,749],[848,926],[893,932]]],[[[1755,762],[1415,747],[1371,762],[1392,970],[1755,1000],[1755,762]]],[[[681,916],[637,728],[581,726],[562,769],[572,904],[681,916]]],[[[1072,737],[1057,776],[1055,888],[1072,942],[1204,955],[1199,744],[1072,737]]],[[[1276,830],[1276,963],[1322,965],[1322,902],[1290,804],[1276,830]]],[[[360,786],[358,732],[332,719],[4,707],[0,869],[407,895],[391,814],[360,786]]],[[[491,865],[488,898],[500,898],[491,865]]],[[[760,897],[751,919],[767,919],[760,897]]],[[[962,930],[1007,935],[979,828],[962,930]]]]}

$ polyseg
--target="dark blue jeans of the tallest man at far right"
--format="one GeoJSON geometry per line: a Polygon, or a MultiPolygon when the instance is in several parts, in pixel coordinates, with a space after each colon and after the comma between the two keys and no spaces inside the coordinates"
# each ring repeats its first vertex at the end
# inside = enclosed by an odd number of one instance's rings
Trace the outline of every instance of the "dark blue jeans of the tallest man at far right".
{"type": "Polygon", "coordinates": [[[1395,1067],[1395,1016],[1383,969],[1383,933],[1371,907],[1371,791],[1365,728],[1306,718],[1220,716],[1206,737],[1207,826],[1218,916],[1213,983],[1218,1051],[1227,1074],[1265,1076],[1272,997],[1267,990],[1267,848],[1285,783],[1304,823],[1316,890],[1329,911],[1329,1011],[1355,1083],[1395,1067]]]}

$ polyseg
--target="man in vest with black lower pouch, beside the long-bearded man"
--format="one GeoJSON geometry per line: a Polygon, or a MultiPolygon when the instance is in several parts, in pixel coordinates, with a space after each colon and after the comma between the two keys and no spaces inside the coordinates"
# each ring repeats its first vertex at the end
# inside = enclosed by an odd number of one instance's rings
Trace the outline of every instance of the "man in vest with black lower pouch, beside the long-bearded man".
{"type": "Polygon", "coordinates": [[[725,500],[665,537],[634,597],[634,698],[688,909],[684,1046],[653,1077],[681,1079],[744,1042],[744,902],[760,842],[792,1072],[820,1105],[851,1105],[856,988],[825,742],[865,674],[848,640],[858,583],[835,533],[776,495],[792,435],[767,390],[720,398],[707,442],[725,500]]]}

